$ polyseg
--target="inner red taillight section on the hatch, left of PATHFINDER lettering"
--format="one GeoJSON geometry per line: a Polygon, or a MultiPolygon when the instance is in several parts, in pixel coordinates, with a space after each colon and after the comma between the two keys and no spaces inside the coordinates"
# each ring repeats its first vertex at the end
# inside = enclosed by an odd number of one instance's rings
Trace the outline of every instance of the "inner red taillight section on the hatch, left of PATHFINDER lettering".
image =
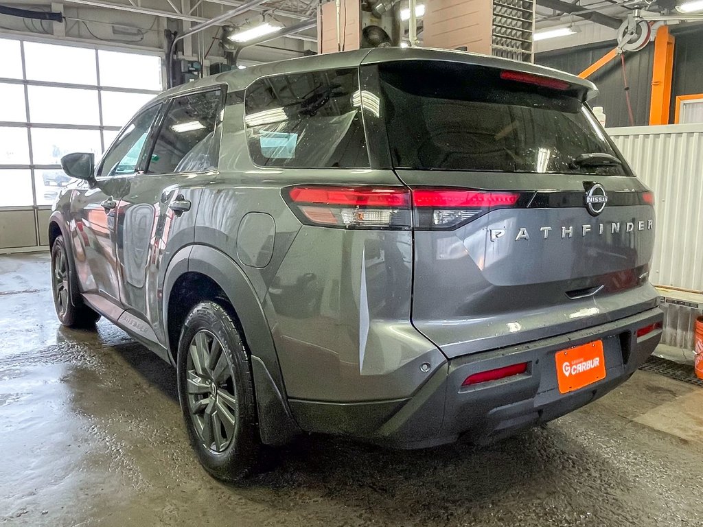
{"type": "Polygon", "coordinates": [[[415,228],[419,230],[455,228],[492,209],[512,207],[519,197],[520,194],[509,192],[413,188],[415,228]]]}

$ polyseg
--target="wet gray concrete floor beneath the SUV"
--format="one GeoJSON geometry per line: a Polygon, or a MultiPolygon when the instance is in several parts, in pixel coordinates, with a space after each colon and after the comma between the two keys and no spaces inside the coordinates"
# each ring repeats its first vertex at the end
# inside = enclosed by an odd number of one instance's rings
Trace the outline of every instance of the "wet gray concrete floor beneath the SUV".
{"type": "Polygon", "coordinates": [[[488,448],[302,438],[242,486],[205,474],[174,371],[59,327],[46,254],[0,257],[0,523],[703,526],[703,389],[650,372],[488,448]]]}

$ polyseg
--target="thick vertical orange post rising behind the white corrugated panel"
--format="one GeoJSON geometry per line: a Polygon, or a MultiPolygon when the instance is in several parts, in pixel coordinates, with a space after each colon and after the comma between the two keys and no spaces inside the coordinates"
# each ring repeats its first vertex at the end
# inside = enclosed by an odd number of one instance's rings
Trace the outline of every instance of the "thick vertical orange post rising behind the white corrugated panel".
{"type": "Polygon", "coordinates": [[[671,79],[673,76],[673,43],[669,27],[659,26],[654,37],[654,67],[652,69],[652,102],[650,124],[669,124],[671,108],[671,79]]]}

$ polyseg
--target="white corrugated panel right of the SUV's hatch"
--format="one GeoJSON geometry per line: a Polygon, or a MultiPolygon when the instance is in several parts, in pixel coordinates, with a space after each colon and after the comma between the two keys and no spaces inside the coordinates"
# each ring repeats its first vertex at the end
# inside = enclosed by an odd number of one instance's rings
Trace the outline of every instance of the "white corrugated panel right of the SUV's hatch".
{"type": "Polygon", "coordinates": [[[609,129],[638,178],[654,191],[654,285],[703,291],[703,125],[609,129]]]}

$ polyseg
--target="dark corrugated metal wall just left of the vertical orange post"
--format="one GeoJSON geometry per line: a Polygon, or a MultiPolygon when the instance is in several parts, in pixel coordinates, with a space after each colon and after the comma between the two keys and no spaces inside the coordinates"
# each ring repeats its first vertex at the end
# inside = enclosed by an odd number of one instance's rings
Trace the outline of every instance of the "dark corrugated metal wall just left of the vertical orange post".
{"type": "MultiPolygon", "coordinates": [[[[601,42],[595,46],[545,51],[536,53],[534,60],[535,63],[543,66],[579,74],[614,47],[615,42],[610,41],[601,42]]],[[[654,44],[651,43],[647,44],[642,51],[627,53],[625,56],[625,71],[630,86],[630,100],[636,126],[643,126],[650,122],[653,58],[654,44]]],[[[589,102],[592,106],[604,108],[607,126],[630,126],[620,59],[612,60],[603,66],[589,80],[595,82],[600,90],[600,95],[589,102]]]]}

